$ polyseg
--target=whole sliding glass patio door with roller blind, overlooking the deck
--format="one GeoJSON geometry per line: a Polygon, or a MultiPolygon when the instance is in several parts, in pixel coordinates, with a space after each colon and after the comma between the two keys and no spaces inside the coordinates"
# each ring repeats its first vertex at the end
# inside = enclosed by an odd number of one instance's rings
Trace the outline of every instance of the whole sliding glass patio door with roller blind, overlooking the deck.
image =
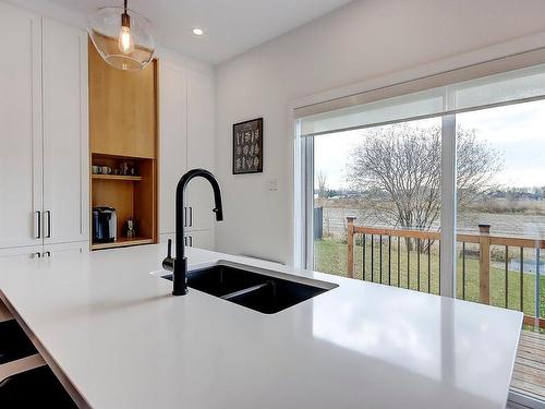
{"type": "Polygon", "coordinates": [[[370,94],[298,119],[302,266],[522,311],[511,398],[543,401],[545,65],[370,94]]]}

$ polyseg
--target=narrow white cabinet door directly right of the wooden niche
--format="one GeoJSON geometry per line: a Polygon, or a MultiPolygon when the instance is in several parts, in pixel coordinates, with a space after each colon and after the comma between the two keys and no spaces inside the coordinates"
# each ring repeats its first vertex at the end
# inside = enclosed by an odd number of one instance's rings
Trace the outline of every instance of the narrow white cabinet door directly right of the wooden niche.
{"type": "Polygon", "coordinates": [[[169,62],[160,65],[159,232],[172,233],[175,187],[187,168],[187,94],[184,72],[169,62]]]}

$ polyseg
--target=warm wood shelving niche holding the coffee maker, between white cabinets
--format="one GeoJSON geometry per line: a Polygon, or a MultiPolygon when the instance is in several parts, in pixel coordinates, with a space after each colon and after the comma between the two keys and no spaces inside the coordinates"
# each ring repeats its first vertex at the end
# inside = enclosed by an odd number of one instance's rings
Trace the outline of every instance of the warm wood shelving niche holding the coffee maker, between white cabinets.
{"type": "Polygon", "coordinates": [[[89,41],[92,250],[157,242],[157,61],[141,71],[108,65],[89,41]],[[93,171],[95,169],[95,171],[93,171]],[[95,242],[93,208],[117,214],[113,242],[95,242]],[[133,219],[136,236],[128,238],[133,219]]]}

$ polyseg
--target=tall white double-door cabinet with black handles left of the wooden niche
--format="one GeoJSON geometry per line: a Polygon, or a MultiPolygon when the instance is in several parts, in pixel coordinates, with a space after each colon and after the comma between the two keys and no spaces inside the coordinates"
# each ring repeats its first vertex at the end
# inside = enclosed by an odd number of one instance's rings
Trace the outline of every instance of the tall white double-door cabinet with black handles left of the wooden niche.
{"type": "Polygon", "coordinates": [[[0,249],[88,241],[86,41],[0,2],[0,249]]]}

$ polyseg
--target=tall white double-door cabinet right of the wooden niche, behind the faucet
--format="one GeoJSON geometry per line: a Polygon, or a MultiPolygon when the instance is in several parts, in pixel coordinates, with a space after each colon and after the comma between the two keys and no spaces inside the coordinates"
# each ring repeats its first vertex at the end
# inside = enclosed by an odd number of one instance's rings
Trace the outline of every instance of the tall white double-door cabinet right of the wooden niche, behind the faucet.
{"type": "MultiPolygon", "coordinates": [[[[161,234],[175,231],[175,188],[187,170],[214,172],[214,79],[168,60],[160,69],[160,213],[161,234]]],[[[187,231],[211,230],[215,224],[210,184],[201,178],[187,185],[184,206],[187,231]]],[[[214,233],[210,232],[214,237],[214,233]]],[[[207,248],[213,240],[207,240],[207,248]]]]}

